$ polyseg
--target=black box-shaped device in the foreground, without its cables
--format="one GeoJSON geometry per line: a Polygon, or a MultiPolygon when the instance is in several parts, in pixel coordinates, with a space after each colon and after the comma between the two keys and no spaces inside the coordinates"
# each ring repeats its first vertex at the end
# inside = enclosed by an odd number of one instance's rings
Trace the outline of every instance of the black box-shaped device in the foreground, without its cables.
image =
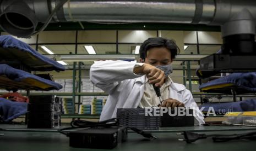
{"type": "Polygon", "coordinates": [[[78,148],[112,149],[127,141],[126,127],[91,127],[68,133],[69,146],[78,148]]]}

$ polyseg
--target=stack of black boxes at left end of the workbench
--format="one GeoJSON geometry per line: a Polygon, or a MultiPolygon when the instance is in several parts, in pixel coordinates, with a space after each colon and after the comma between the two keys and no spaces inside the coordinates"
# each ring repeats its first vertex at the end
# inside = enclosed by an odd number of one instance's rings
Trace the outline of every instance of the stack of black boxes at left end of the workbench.
{"type": "Polygon", "coordinates": [[[57,128],[61,126],[62,98],[55,95],[30,96],[28,128],[57,128]]]}

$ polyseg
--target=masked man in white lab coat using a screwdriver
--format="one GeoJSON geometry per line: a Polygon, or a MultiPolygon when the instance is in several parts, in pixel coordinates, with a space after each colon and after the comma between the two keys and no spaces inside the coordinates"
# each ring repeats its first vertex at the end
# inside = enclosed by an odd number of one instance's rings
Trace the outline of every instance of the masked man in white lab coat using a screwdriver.
{"type": "Polygon", "coordinates": [[[154,85],[160,88],[164,100],[161,107],[193,108],[196,111],[195,123],[203,124],[203,114],[191,92],[171,79],[171,63],[178,51],[175,41],[157,37],[149,38],[141,44],[138,63],[121,60],[95,61],[90,69],[90,80],[108,94],[100,121],[116,118],[117,108],[157,106],[159,98],[154,85]]]}

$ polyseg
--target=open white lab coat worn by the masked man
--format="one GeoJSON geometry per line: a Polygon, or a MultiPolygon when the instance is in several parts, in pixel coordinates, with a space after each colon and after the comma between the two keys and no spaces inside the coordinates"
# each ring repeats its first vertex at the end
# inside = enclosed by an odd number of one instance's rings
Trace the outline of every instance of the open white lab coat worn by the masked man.
{"type": "MultiPolygon", "coordinates": [[[[128,61],[95,61],[90,69],[91,82],[107,92],[108,98],[102,109],[100,121],[116,118],[117,108],[137,108],[143,96],[145,75],[137,75],[133,68],[137,63],[128,61]]],[[[182,84],[170,85],[170,97],[184,103],[185,107],[194,108],[194,115],[199,124],[204,123],[193,96],[182,84]]]]}

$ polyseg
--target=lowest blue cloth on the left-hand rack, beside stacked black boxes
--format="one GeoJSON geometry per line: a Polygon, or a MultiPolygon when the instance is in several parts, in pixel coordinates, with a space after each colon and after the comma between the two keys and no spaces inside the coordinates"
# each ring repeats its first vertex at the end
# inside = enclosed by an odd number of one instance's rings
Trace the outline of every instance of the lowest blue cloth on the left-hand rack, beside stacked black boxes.
{"type": "Polygon", "coordinates": [[[5,98],[0,98],[0,114],[4,121],[12,121],[20,115],[27,113],[28,103],[12,102],[5,98]]]}

